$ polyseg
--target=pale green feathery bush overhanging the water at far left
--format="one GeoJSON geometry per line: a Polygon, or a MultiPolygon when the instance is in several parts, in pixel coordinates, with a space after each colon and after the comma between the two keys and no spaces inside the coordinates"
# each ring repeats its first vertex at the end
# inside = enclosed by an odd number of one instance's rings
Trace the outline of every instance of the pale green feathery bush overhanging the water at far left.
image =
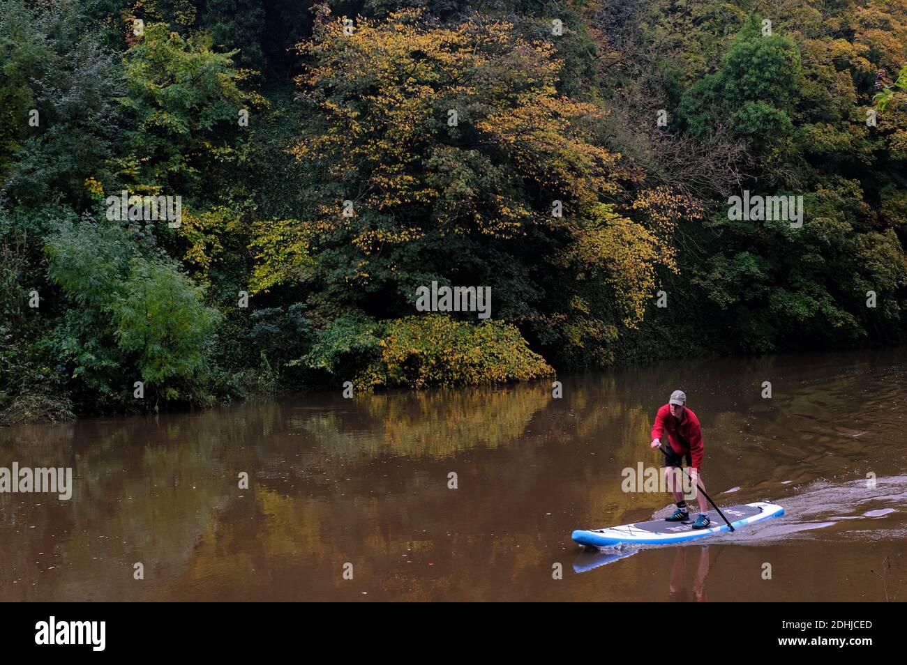
{"type": "Polygon", "coordinates": [[[66,221],[48,240],[48,275],[72,304],[54,346],[102,402],[209,400],[207,345],[219,319],[170,259],[142,256],[135,229],[66,221]]]}

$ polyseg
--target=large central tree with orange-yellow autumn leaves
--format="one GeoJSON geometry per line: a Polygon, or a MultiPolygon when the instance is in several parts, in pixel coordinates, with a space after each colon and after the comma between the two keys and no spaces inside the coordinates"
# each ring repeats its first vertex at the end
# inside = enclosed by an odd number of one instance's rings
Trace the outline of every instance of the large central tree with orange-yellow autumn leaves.
{"type": "Polygon", "coordinates": [[[385,318],[420,284],[489,284],[494,316],[548,348],[639,320],[669,250],[607,207],[638,176],[601,144],[602,111],[557,92],[550,43],[479,17],[322,12],[297,80],[317,120],[292,149],[325,184],[306,218],[258,227],[258,288],[298,280],[385,318]]]}

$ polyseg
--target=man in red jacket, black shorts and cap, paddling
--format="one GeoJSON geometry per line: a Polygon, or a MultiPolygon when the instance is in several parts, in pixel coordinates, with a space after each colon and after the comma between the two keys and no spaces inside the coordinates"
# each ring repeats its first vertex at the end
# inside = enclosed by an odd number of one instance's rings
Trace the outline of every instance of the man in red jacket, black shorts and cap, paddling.
{"type": "MultiPolygon", "coordinates": [[[[702,429],[699,427],[699,419],[696,414],[687,408],[687,395],[681,390],[674,390],[668,403],[658,410],[655,424],[652,426],[652,448],[658,448],[661,445],[661,438],[666,431],[668,432],[668,444],[665,446],[665,452],[668,454],[668,461],[665,467],[665,480],[668,488],[674,494],[674,500],[678,503],[677,510],[666,519],[668,522],[680,522],[688,520],[689,514],[683,492],[674,491],[673,478],[679,476],[679,469],[683,467],[683,458],[687,458],[687,467],[693,484],[695,485],[698,481],[699,487],[702,487],[703,490],[706,488],[702,478],[699,477],[704,450],[702,429]]],[[[706,497],[702,492],[697,492],[696,498],[699,503],[699,515],[692,526],[694,529],[704,529],[711,522],[706,515],[706,497]]]]}

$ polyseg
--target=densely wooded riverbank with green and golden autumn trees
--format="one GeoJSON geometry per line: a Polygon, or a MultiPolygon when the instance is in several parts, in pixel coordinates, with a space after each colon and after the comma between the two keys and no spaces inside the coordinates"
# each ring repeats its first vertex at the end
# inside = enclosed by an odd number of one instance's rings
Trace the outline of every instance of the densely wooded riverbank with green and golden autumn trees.
{"type": "Polygon", "coordinates": [[[249,2],[0,0],[6,421],[907,341],[902,5],[249,2]]]}

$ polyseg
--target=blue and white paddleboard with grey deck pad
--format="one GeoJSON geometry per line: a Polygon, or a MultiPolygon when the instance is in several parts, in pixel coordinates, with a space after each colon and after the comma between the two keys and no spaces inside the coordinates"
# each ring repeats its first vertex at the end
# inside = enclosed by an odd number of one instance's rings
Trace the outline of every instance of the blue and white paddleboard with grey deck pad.
{"type": "MultiPolygon", "coordinates": [[[[785,509],[775,504],[766,504],[759,501],[755,504],[730,506],[722,508],[727,520],[737,529],[741,526],[751,525],[769,517],[785,514],[785,509]]],[[[695,512],[691,511],[690,519],[685,522],[668,522],[665,519],[653,519],[650,522],[638,522],[633,525],[610,526],[607,529],[585,530],[578,529],[571,536],[580,545],[590,547],[605,547],[619,543],[633,543],[636,545],[668,545],[670,543],[683,543],[707,535],[714,535],[722,531],[729,531],[725,521],[714,510],[709,510],[707,515],[712,520],[711,525],[704,529],[694,529],[695,512]]]]}

